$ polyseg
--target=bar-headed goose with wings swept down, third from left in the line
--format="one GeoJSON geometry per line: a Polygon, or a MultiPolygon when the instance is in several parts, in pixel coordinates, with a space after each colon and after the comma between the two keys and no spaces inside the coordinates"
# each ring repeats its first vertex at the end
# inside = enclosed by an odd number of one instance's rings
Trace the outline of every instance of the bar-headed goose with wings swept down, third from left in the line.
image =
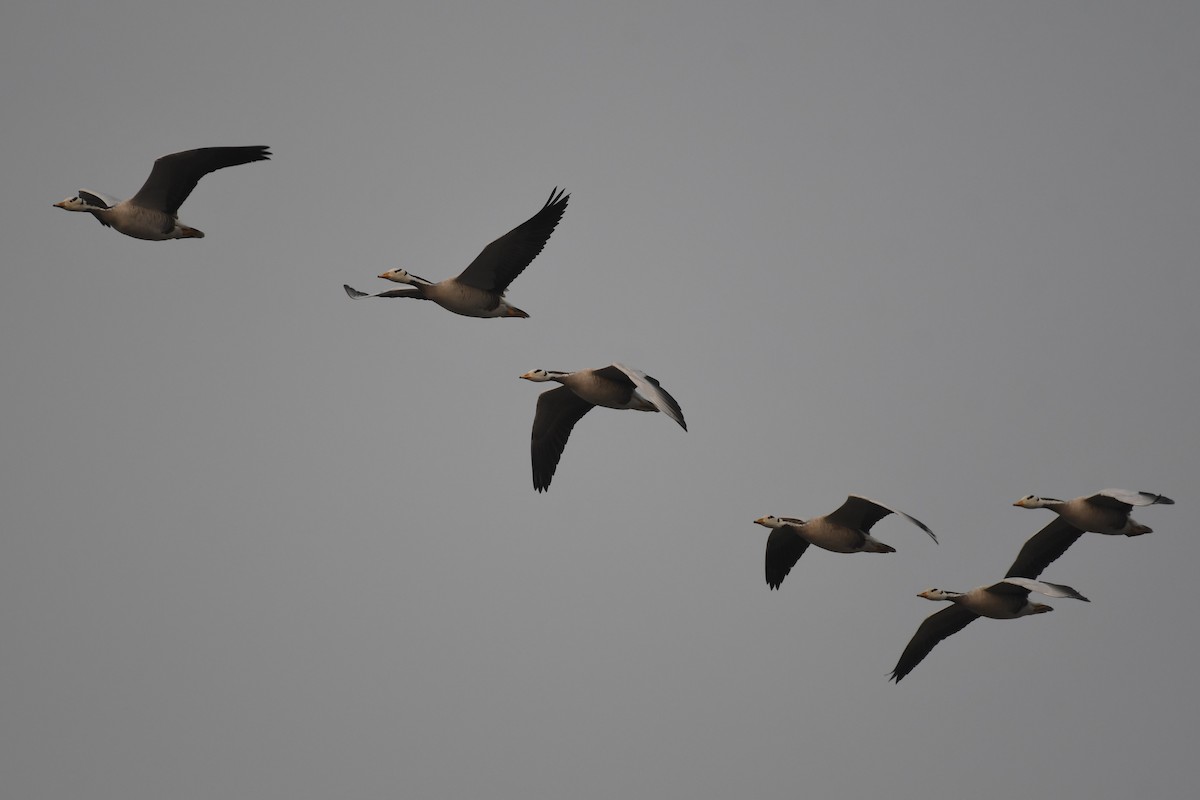
{"type": "Polygon", "coordinates": [[[688,429],[676,398],[654,378],[622,363],[577,372],[534,369],[521,378],[563,384],[538,397],[538,411],[533,417],[529,452],[533,461],[533,488],[539,492],[550,488],[550,479],[554,476],[558,459],[563,457],[571,428],[596,405],[661,411],[678,422],[680,428],[688,429]]]}

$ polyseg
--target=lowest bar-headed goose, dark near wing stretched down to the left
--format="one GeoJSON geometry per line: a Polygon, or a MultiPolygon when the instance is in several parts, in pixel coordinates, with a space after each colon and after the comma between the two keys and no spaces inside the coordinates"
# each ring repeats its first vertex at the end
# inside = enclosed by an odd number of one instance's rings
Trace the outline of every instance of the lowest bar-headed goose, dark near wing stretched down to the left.
{"type": "Polygon", "coordinates": [[[929,655],[938,642],[958,633],[980,616],[1016,619],[1018,616],[1054,610],[1044,603],[1030,602],[1031,591],[1048,597],[1072,597],[1091,602],[1070,587],[1020,577],[1004,578],[1000,583],[994,583],[990,587],[977,587],[971,591],[926,589],[917,596],[925,600],[948,600],[954,604],[926,618],[920,624],[917,633],[908,642],[908,646],[900,655],[895,669],[892,670],[892,680],[899,684],[905,675],[912,672],[913,667],[929,655]]]}

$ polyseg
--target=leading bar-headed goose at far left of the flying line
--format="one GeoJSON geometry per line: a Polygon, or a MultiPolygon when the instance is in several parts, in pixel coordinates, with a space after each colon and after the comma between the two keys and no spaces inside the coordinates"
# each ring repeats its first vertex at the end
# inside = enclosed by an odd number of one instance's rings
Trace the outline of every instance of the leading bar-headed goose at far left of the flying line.
{"type": "Polygon", "coordinates": [[[100,219],[102,225],[134,239],[203,239],[203,230],[179,224],[179,206],[199,180],[211,172],[252,161],[266,161],[270,156],[270,151],[262,145],[199,148],[173,152],[154,162],[150,178],[127,200],[114,203],[98,192],[79,190],[76,197],[54,205],[67,211],[86,211],[100,219]]]}

